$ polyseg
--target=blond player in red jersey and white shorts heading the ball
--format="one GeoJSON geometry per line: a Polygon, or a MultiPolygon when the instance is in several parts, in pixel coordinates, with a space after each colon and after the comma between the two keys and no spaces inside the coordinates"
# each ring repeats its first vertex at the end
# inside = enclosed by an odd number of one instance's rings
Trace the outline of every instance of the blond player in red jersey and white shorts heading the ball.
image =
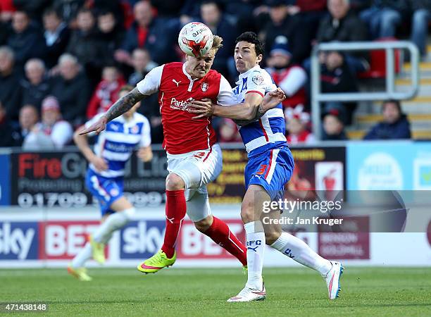
{"type": "MultiPolygon", "coordinates": [[[[186,212],[199,231],[246,265],[246,247],[222,220],[211,214],[208,203],[206,185],[215,180],[222,169],[221,150],[215,144],[211,120],[195,120],[194,114],[189,112],[193,99],[211,99],[225,105],[235,102],[225,77],[211,70],[222,41],[221,37],[214,36],[213,46],[204,56],[187,56],[185,63],[168,63],[154,68],[132,92],[115,102],[105,116],[81,132],[101,132],[109,120],[158,92],[163,147],[168,154],[169,171],[166,178],[166,231],[161,250],[138,266],[141,272],[155,273],[175,263],[175,244],[186,212]]],[[[280,90],[268,94],[261,108],[275,106],[284,97],[280,90]]],[[[244,113],[254,116],[256,111],[257,108],[248,108],[244,113]]]]}

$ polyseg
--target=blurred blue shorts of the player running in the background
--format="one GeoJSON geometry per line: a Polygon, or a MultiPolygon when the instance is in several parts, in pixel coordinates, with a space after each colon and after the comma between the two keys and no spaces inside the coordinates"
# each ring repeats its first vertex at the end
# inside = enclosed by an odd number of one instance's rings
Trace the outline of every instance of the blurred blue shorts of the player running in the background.
{"type": "Polygon", "coordinates": [[[104,178],[89,168],[85,176],[85,185],[89,192],[99,201],[102,216],[106,213],[113,213],[114,211],[109,207],[115,200],[123,197],[123,178],[104,178]]]}

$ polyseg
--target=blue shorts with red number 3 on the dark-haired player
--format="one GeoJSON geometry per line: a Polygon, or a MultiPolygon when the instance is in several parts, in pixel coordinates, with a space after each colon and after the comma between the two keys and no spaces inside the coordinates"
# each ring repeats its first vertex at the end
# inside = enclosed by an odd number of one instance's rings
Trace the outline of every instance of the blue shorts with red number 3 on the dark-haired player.
{"type": "Polygon", "coordinates": [[[250,185],[261,185],[271,200],[281,199],[293,169],[294,159],[289,147],[270,149],[251,156],[244,171],[246,189],[250,185]]]}

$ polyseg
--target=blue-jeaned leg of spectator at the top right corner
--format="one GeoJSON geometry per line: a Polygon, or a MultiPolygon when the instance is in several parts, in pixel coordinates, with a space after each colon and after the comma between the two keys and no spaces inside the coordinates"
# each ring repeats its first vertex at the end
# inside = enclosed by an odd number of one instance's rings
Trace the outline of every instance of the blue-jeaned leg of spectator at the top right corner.
{"type": "Polygon", "coordinates": [[[411,24],[411,40],[420,51],[421,56],[427,54],[428,22],[431,19],[431,0],[411,0],[413,18],[411,24]]]}

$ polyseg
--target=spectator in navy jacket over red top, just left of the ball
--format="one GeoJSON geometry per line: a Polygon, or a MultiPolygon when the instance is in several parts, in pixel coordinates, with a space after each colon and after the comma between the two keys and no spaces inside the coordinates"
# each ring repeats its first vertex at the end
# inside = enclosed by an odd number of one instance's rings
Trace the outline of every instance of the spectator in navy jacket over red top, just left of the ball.
{"type": "Polygon", "coordinates": [[[115,51],[115,60],[132,65],[130,54],[137,47],[148,49],[159,65],[175,60],[173,54],[177,34],[166,20],[154,18],[149,1],[139,1],[134,7],[135,22],[127,31],[121,49],[115,51]]]}

